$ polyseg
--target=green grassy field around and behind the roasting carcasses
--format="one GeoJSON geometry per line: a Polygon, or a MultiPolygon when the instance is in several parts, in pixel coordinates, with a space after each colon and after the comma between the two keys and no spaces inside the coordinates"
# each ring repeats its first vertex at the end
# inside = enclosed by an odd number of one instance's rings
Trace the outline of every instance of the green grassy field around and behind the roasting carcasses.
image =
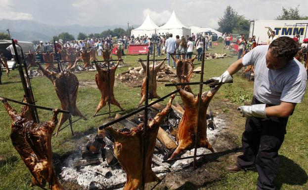
{"type": "MultiPolygon", "coordinates": [[[[210,49],[210,52],[221,53],[221,46],[214,46],[213,49],[210,49]]],[[[141,57],[143,59],[146,58],[146,56],[141,57]]],[[[127,56],[124,59],[128,63],[128,67],[139,66],[136,61],[138,56],[127,56]]],[[[236,56],[206,61],[204,78],[220,76],[235,59],[236,56]]],[[[200,62],[195,61],[195,67],[198,66],[200,66],[200,62]]],[[[118,68],[116,74],[126,71],[128,67],[118,68]]],[[[76,73],[76,76],[80,82],[94,81],[95,74],[96,72],[80,72],[76,73]]],[[[17,71],[12,71],[11,76],[12,78],[10,79],[7,76],[2,76],[3,85],[0,85],[0,96],[21,100],[23,89],[17,71]]],[[[236,112],[235,108],[243,105],[245,102],[249,102],[253,93],[253,82],[248,82],[247,79],[240,77],[240,75],[235,75],[234,79],[235,82],[233,84],[222,86],[213,100],[213,103],[222,101],[230,102],[231,104],[220,103],[220,109],[226,113],[236,112]]],[[[198,80],[199,75],[193,75],[191,81],[198,80]]],[[[32,79],[32,85],[38,105],[60,108],[60,101],[56,96],[54,87],[45,76],[34,77],[32,79]]],[[[164,95],[174,89],[174,87],[165,87],[162,83],[159,83],[157,92],[159,95],[164,95]]],[[[204,87],[204,91],[206,89],[208,89],[207,86],[204,87]]],[[[192,90],[197,92],[198,86],[193,86],[192,90]]],[[[140,100],[140,88],[133,88],[119,81],[116,82],[114,93],[121,106],[127,110],[126,112],[135,109],[140,100]]],[[[107,116],[92,117],[99,99],[100,92],[97,88],[87,86],[79,87],[77,106],[86,115],[88,120],[79,120],[73,124],[74,132],[76,133],[75,136],[72,137],[69,128],[66,128],[60,132],[57,138],[53,138],[52,150],[54,154],[63,156],[75,150],[80,146],[76,142],[81,134],[87,131],[94,131],[98,126],[110,119],[107,116]]],[[[179,97],[176,97],[176,101],[180,102],[179,97]]],[[[20,112],[20,105],[14,103],[10,103],[10,105],[20,112]]],[[[308,190],[307,107],[308,98],[306,95],[304,101],[297,105],[296,111],[289,118],[285,141],[279,152],[280,166],[275,182],[280,190],[308,190]]],[[[114,106],[111,106],[111,108],[113,111],[118,110],[114,106]]],[[[107,110],[108,108],[106,106],[100,113],[105,113],[107,110]]],[[[39,110],[39,115],[41,121],[46,121],[52,116],[52,113],[39,110]]],[[[230,133],[237,137],[236,143],[240,145],[240,137],[244,129],[245,119],[242,117],[234,117],[232,119],[232,123],[237,123],[237,125],[230,126],[230,133]]],[[[3,106],[0,106],[0,190],[29,190],[31,189],[29,187],[31,174],[11,144],[9,138],[10,124],[11,119],[3,106]]],[[[255,171],[238,173],[227,173],[223,171],[223,166],[231,164],[233,160],[234,155],[228,155],[226,159],[222,160],[220,168],[222,173],[221,179],[206,184],[201,190],[255,190],[258,178],[258,174],[255,171]]]]}

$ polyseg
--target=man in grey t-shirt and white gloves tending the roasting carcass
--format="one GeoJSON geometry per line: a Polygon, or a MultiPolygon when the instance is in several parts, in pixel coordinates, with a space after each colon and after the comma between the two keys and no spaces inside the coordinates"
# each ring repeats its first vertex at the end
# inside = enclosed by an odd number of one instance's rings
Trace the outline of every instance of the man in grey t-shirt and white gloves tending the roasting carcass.
{"type": "Polygon", "coordinates": [[[211,87],[232,82],[232,75],[242,67],[255,66],[252,105],[238,108],[247,117],[242,135],[243,154],[237,157],[236,165],[226,169],[237,172],[256,166],[257,190],[275,190],[278,150],[284,140],[288,117],[304,98],[307,72],[294,59],[297,51],[298,45],[292,38],[280,37],[270,45],[255,47],[220,77],[206,81],[211,87]]]}

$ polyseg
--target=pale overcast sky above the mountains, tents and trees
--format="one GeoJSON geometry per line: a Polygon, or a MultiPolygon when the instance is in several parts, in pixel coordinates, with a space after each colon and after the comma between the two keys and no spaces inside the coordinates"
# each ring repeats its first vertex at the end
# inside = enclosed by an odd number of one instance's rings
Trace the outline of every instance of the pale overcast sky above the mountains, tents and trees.
{"type": "Polygon", "coordinates": [[[307,0],[0,0],[0,19],[34,20],[58,26],[127,25],[128,22],[141,25],[149,13],[160,25],[175,10],[187,27],[218,28],[217,22],[228,4],[250,20],[275,19],[283,6],[300,5],[300,13],[308,14],[307,0]]]}

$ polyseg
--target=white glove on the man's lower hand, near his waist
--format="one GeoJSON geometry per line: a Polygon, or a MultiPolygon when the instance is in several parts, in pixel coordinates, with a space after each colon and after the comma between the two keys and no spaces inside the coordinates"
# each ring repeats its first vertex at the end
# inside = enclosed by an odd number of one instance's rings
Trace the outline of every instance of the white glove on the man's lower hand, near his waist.
{"type": "Polygon", "coordinates": [[[254,104],[251,106],[240,106],[237,110],[240,111],[243,117],[259,117],[266,118],[265,114],[266,104],[254,104]]]}

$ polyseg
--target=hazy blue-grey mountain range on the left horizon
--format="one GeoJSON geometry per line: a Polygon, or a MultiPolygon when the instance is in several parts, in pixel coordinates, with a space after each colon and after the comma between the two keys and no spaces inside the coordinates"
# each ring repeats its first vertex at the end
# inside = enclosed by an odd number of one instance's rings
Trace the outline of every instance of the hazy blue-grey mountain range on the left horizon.
{"type": "MultiPolygon", "coordinates": [[[[137,25],[132,26],[137,28],[137,25]]],[[[127,26],[112,25],[112,26],[99,26],[99,27],[86,27],[78,24],[69,26],[53,26],[48,24],[39,23],[30,20],[0,20],[0,32],[7,33],[7,29],[10,31],[12,38],[22,41],[43,40],[49,41],[53,36],[57,36],[62,32],[68,32],[77,35],[82,32],[85,34],[101,33],[105,30],[113,30],[115,28],[127,29],[127,26]]]]}

